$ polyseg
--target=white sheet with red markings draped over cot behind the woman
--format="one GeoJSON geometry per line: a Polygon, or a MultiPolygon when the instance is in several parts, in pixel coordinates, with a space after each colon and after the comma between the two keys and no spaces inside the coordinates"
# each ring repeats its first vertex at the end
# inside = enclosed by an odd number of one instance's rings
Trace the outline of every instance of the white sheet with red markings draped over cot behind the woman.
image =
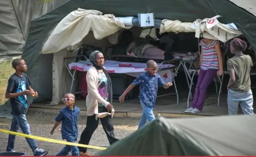
{"type": "MultiPolygon", "coordinates": [[[[158,64],[159,65],[159,64],[158,64]]],[[[69,69],[76,69],[77,71],[88,71],[92,66],[89,59],[86,61],[73,62],[68,65],[69,69]]],[[[162,64],[160,68],[172,67],[172,64],[162,64]]],[[[108,73],[121,73],[127,74],[133,77],[137,77],[140,73],[146,71],[146,63],[134,63],[134,62],[120,62],[114,60],[106,60],[104,67],[108,73]]],[[[171,70],[159,71],[158,74],[165,80],[165,82],[172,82],[171,70]]]]}

